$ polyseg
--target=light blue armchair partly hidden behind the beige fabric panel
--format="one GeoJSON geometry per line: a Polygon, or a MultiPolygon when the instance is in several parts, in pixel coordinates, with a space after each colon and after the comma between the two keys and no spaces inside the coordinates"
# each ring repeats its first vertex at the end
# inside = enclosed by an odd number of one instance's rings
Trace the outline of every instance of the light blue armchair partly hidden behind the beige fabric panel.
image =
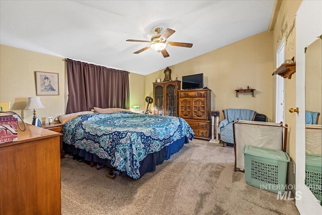
{"type": "Polygon", "coordinates": [[[224,120],[218,126],[220,140],[223,146],[226,143],[227,146],[233,147],[232,123],[237,121],[237,119],[254,121],[256,111],[249,109],[225,109],[222,112],[224,120]]]}

